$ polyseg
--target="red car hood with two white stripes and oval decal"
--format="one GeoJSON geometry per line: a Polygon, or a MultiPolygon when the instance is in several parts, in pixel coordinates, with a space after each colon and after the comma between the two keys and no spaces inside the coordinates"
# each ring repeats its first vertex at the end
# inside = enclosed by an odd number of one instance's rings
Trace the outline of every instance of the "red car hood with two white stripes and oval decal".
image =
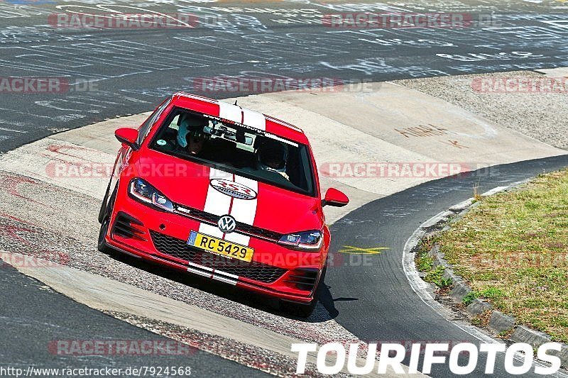
{"type": "Polygon", "coordinates": [[[236,221],[277,233],[320,230],[324,225],[319,198],[153,150],[131,167],[176,204],[217,216],[230,214],[236,221]]]}

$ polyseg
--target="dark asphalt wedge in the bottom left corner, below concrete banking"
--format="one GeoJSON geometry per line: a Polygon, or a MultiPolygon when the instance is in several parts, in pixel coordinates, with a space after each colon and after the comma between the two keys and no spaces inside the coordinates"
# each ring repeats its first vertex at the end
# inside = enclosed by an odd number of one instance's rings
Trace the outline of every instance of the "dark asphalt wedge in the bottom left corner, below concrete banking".
{"type": "MultiPolygon", "coordinates": [[[[3,265],[0,269],[2,309],[0,318],[10,326],[2,327],[1,337],[5,350],[0,364],[26,371],[28,367],[40,368],[91,368],[114,369],[141,367],[191,367],[192,374],[208,377],[263,377],[259,370],[225,360],[195,348],[180,348],[179,355],[58,355],[55,340],[143,340],[165,343],[168,338],[105,315],[92,308],[77,304],[55,293],[40,282],[19,273],[13,267],[3,265]],[[50,345],[51,348],[45,348],[50,345]]],[[[141,342],[142,343],[142,342],[141,342]]],[[[160,345],[160,344],[157,344],[160,345]]],[[[165,345],[163,344],[164,348],[165,345]]],[[[173,344],[177,348],[178,344],[173,344]]],[[[69,345],[62,350],[72,351],[69,345]],[[68,348],[67,348],[68,347],[68,348]]],[[[35,374],[30,374],[34,376],[35,374]]],[[[40,374],[37,374],[40,376],[40,374]]],[[[50,376],[50,374],[44,374],[50,376]]]]}

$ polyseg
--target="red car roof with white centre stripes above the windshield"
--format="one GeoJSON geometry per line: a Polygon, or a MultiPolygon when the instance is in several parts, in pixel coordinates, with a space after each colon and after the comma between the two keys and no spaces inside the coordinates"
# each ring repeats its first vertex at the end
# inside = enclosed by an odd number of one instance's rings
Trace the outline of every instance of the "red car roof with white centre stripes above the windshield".
{"type": "Polygon", "coordinates": [[[306,135],[301,128],[281,121],[278,118],[266,116],[266,114],[251,111],[250,109],[245,109],[238,105],[185,92],[174,94],[172,104],[180,108],[198,111],[209,116],[242,124],[249,128],[266,131],[297,143],[308,144],[306,135]]]}

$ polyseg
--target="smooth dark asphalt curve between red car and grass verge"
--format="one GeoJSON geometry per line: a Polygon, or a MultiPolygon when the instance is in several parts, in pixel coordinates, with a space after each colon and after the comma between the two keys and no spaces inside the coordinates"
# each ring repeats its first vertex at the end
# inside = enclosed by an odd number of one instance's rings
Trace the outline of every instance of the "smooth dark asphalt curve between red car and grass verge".
{"type": "MultiPolygon", "coordinates": [[[[566,165],[568,155],[482,169],[466,177],[428,182],[352,211],[332,226],[331,250],[341,250],[343,245],[388,250],[359,264],[343,262],[344,255],[336,252],[332,261],[339,261],[328,269],[322,304],[337,316],[336,321],[368,343],[479,343],[417,299],[403,273],[405,243],[423,222],[470,198],[474,184],[479,183],[484,192],[566,165]]],[[[480,362],[476,374],[483,375],[484,366],[480,362]]],[[[501,369],[497,366],[496,376],[507,376],[503,362],[501,369]]],[[[444,365],[433,368],[432,374],[452,376],[444,365]]]]}

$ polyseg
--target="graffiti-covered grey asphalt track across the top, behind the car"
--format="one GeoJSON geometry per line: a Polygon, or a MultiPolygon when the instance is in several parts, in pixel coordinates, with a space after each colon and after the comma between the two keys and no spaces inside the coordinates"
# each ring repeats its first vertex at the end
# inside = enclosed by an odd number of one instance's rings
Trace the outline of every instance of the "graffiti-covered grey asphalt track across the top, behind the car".
{"type": "Polygon", "coordinates": [[[452,3],[451,9],[428,0],[413,2],[415,6],[393,1],[391,8],[310,0],[209,5],[127,0],[117,1],[116,8],[87,3],[92,4],[0,3],[0,77],[60,77],[70,84],[62,93],[1,93],[0,152],[59,130],[148,111],[178,90],[217,98],[245,94],[238,88],[230,93],[204,91],[195,85],[200,78],[330,77],[378,82],[568,66],[567,48],[559,43],[568,34],[562,21],[565,9],[557,1],[508,1],[499,6],[466,1],[452,3]],[[385,9],[464,12],[484,23],[468,28],[377,30],[329,28],[320,20],[329,13],[385,9]],[[203,23],[189,29],[93,30],[65,28],[65,24],[54,28],[58,24],[50,18],[71,11],[141,10],[191,12],[203,23]]]}

